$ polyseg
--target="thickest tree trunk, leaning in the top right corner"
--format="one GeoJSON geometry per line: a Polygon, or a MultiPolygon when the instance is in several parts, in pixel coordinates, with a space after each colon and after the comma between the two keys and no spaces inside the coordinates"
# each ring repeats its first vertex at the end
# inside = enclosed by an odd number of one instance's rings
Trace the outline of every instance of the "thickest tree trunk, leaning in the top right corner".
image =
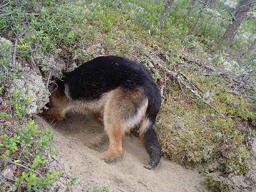
{"type": "Polygon", "coordinates": [[[246,12],[249,10],[250,6],[254,4],[254,0],[242,0],[236,7],[234,15],[229,23],[226,32],[222,36],[222,41],[230,44],[236,35],[241,23],[244,20],[246,12]]]}

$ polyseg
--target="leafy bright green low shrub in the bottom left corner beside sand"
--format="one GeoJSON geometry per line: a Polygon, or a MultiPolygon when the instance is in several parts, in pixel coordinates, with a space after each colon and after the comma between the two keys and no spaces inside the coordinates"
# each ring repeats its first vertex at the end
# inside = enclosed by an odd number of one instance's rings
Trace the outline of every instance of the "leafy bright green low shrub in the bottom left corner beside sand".
{"type": "MultiPolygon", "coordinates": [[[[22,161],[13,159],[14,164],[23,168],[22,175],[17,173],[13,188],[17,189],[22,184],[28,191],[41,191],[44,187],[50,187],[59,175],[58,172],[52,172],[51,169],[45,173],[44,177],[39,173],[41,166],[47,167],[47,157],[43,154],[52,144],[51,132],[49,130],[39,131],[33,120],[29,120],[24,129],[17,131],[10,137],[7,134],[1,135],[0,157],[1,159],[11,159],[16,155],[22,154],[22,161]],[[25,165],[22,163],[26,162],[25,165]]],[[[72,185],[75,180],[71,181],[72,185]]]]}

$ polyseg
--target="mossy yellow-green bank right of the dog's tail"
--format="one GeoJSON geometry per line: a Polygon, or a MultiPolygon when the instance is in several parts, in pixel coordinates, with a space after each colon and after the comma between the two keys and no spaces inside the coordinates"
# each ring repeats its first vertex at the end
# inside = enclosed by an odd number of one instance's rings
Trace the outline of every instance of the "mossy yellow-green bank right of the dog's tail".
{"type": "Polygon", "coordinates": [[[177,163],[203,165],[206,167],[203,171],[208,172],[211,162],[217,162],[220,166],[214,171],[244,175],[249,153],[243,140],[248,133],[241,129],[240,122],[242,119],[255,121],[252,105],[245,97],[226,92],[221,77],[204,77],[193,68],[189,66],[186,70],[203,90],[210,90],[212,100],[208,102],[223,115],[234,118],[221,117],[201,101],[195,102],[187,90],[183,89],[181,94],[177,84],[170,84],[167,88],[170,97],[162,104],[157,124],[163,154],[177,163]],[[220,83],[215,85],[216,81],[220,83]]]}

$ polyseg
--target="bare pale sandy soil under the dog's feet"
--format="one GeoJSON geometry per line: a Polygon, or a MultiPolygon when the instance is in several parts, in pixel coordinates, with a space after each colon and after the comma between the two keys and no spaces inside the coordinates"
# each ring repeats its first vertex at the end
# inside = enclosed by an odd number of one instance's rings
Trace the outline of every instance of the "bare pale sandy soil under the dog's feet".
{"type": "Polygon", "coordinates": [[[59,163],[68,175],[77,175],[74,191],[92,191],[107,185],[110,191],[205,191],[202,176],[164,158],[153,170],[145,148],[135,136],[123,139],[123,155],[111,164],[98,159],[108,147],[108,137],[89,116],[69,116],[60,122],[38,117],[37,124],[53,132],[59,163]],[[50,125],[52,124],[52,125],[50,125]]]}

